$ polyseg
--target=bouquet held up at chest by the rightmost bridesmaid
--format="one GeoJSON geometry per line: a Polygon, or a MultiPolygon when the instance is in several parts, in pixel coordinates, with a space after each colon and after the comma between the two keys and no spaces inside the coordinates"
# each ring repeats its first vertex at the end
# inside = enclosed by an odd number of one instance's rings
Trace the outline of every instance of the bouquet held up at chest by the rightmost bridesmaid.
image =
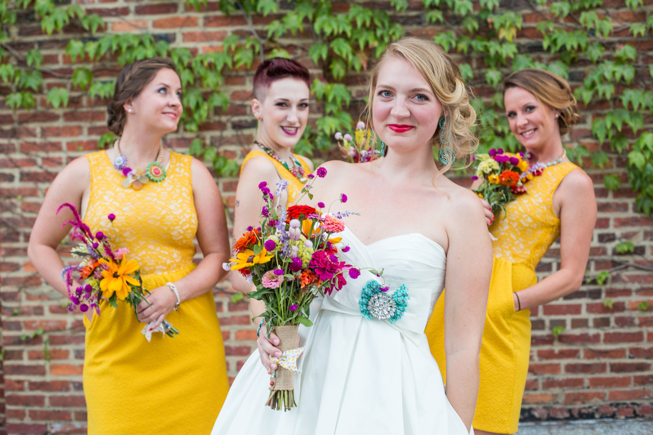
{"type": "Polygon", "coordinates": [[[476,155],[472,163],[476,173],[472,179],[483,179],[474,192],[492,206],[495,216],[505,212],[505,204],[526,192],[526,181],[543,172],[543,164],[528,166],[524,153],[504,153],[502,148],[476,155]]]}

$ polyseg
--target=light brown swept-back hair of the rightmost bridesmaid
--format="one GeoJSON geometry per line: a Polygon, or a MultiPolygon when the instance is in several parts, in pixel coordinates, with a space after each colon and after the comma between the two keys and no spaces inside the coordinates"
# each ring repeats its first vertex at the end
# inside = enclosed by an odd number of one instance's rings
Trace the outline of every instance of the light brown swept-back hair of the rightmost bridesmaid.
{"type": "Polygon", "coordinates": [[[503,79],[504,98],[505,91],[511,87],[520,87],[532,93],[539,102],[546,104],[554,112],[560,112],[558,117],[560,136],[566,134],[581,120],[578,104],[569,83],[552,72],[537,68],[515,71],[503,79]]]}

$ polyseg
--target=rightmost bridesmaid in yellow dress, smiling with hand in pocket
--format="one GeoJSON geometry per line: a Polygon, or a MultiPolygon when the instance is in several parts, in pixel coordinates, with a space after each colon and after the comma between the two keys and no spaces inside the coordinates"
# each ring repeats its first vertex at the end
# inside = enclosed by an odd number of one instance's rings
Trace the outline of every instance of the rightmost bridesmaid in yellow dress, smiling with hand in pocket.
{"type": "MultiPolygon", "coordinates": [[[[561,135],[580,118],[569,84],[528,68],[505,78],[503,87],[515,138],[530,153],[530,163],[545,168],[526,183],[525,194],[505,207],[505,216],[495,220],[484,202],[496,241],[473,420],[477,435],[517,432],[530,355],[529,308],[579,289],[596,223],[592,180],[569,162],[562,146],[561,135]],[[537,282],[535,266],[558,237],[560,269],[537,282]]],[[[425,333],[446,378],[443,306],[444,293],[425,333]]]]}

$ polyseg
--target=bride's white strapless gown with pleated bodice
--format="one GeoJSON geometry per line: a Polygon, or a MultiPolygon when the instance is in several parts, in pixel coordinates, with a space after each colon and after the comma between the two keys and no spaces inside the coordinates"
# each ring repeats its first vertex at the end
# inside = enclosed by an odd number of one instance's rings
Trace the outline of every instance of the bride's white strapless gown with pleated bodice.
{"type": "Polygon", "coordinates": [[[236,376],[212,435],[467,435],[424,335],[444,286],[445,251],[419,233],[367,246],[347,228],[338,235],[351,247],[338,256],[383,269],[388,295],[406,286],[406,311],[394,323],[364,317],[364,286],[383,280],[369,271],[347,277],[340,292],[313,302],[313,326],[300,327],[306,349],[295,375],[297,407],[264,406],[270,375],[256,350],[236,376]]]}

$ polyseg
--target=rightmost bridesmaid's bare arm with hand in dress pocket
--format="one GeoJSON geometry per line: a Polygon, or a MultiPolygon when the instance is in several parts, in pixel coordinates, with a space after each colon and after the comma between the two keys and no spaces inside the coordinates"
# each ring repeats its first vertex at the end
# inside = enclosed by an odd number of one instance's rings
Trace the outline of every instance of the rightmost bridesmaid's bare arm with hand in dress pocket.
{"type": "Polygon", "coordinates": [[[554,196],[560,201],[560,270],[534,286],[517,292],[515,310],[555,301],[581,287],[596,224],[592,179],[581,170],[570,172],[554,196]],[[517,302],[519,297],[519,302],[517,302]]]}

